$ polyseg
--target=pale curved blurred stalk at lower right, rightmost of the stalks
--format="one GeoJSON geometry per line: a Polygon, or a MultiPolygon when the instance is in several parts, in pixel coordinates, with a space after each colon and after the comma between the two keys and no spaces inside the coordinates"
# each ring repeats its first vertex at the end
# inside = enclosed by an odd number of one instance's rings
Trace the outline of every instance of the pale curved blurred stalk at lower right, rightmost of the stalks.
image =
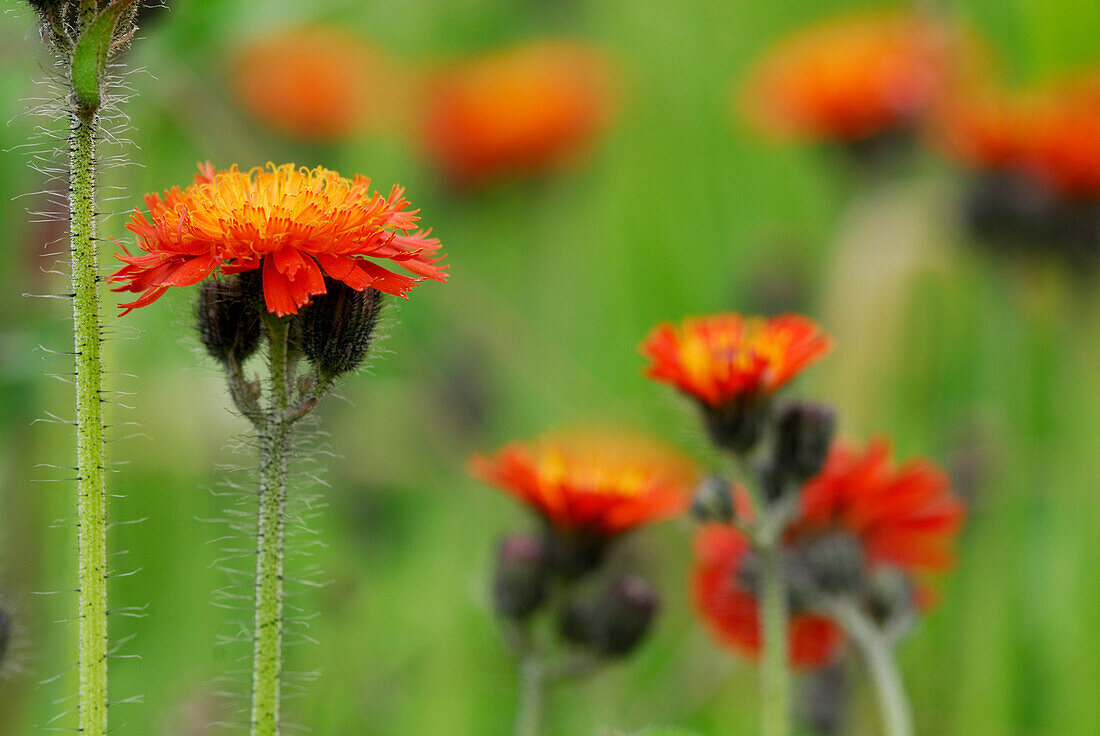
{"type": "Polygon", "coordinates": [[[913,736],[913,713],[889,637],[848,601],[834,602],[828,611],[855,642],[867,664],[887,736],[913,736]]]}

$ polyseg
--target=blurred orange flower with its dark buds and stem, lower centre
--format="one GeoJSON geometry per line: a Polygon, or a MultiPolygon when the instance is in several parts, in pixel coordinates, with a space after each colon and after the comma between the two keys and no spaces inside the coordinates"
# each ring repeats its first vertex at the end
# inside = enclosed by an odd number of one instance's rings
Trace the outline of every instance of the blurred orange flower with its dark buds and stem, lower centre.
{"type": "MultiPolygon", "coordinates": [[[[542,521],[497,548],[493,608],[520,668],[516,734],[537,734],[543,691],[632,652],[660,595],[622,537],[688,506],[698,471],[653,440],[606,431],[548,435],[474,457],[470,471],[542,521]],[[553,636],[539,634],[548,619],[553,636]]],[[[543,629],[544,630],[544,629],[543,629]]]]}

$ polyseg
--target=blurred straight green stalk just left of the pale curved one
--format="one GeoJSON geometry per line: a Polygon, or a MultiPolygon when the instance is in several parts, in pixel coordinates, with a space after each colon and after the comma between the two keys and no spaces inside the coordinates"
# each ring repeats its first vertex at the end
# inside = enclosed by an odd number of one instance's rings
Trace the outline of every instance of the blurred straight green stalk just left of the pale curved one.
{"type": "Polygon", "coordinates": [[[759,545],[760,625],[763,659],[760,663],[761,734],[791,733],[791,673],[787,652],[787,586],[782,560],[774,542],[759,545]]]}

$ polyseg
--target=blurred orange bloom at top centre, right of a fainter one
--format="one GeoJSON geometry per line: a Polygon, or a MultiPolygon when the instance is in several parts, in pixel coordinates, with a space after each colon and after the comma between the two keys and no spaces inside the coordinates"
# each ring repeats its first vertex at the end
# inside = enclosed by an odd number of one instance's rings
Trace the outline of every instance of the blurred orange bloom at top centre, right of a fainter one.
{"type": "Polygon", "coordinates": [[[591,141],[612,107],[597,52],[519,46],[446,70],[427,95],[424,142],[455,183],[549,168],[591,141]]]}

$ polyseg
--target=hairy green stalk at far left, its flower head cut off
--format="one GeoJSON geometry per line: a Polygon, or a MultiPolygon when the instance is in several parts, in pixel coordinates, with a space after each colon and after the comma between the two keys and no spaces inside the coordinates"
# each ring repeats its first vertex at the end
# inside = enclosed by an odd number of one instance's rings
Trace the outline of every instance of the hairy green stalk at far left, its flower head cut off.
{"type": "Polygon", "coordinates": [[[84,736],[106,736],[107,485],[96,254],[95,114],[75,112],[72,122],[69,244],[76,348],[77,710],[84,736]]]}

